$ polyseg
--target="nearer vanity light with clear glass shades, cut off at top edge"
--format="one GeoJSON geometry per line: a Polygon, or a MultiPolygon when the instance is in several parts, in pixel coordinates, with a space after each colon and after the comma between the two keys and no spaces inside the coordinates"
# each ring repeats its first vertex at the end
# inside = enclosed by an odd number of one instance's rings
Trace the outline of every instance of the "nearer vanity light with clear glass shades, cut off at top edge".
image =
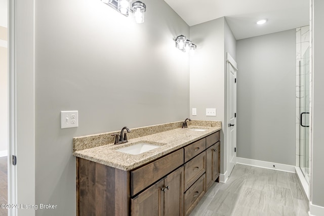
{"type": "Polygon", "coordinates": [[[134,19],[136,23],[144,22],[144,13],[146,11],[146,5],[140,1],[134,2],[131,7],[132,0],[101,0],[101,2],[110,6],[128,17],[129,12],[134,13],[134,19]]]}

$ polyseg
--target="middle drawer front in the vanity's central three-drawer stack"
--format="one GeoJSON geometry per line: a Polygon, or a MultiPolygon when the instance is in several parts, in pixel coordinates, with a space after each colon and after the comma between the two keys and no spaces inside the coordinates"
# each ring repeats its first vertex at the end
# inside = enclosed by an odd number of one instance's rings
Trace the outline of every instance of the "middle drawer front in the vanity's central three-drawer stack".
{"type": "Polygon", "coordinates": [[[184,190],[197,181],[206,171],[206,152],[200,153],[197,157],[184,164],[184,190]]]}

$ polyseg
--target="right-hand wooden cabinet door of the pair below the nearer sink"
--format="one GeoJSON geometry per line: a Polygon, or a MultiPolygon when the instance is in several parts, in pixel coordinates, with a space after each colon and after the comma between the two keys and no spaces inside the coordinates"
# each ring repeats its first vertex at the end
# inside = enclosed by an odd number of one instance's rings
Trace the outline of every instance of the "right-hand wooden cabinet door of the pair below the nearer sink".
{"type": "MultiPolygon", "coordinates": [[[[172,172],[165,179],[164,190],[164,215],[183,215],[183,187],[184,187],[183,166],[172,172]]],[[[143,214],[144,215],[144,214],[143,214]]],[[[148,214],[147,214],[148,215],[148,214]]]]}

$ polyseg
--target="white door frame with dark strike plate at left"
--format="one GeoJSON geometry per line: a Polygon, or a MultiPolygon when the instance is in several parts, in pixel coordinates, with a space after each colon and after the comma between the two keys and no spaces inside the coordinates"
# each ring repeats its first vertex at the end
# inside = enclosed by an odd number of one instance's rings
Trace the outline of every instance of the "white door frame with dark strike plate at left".
{"type": "MultiPolygon", "coordinates": [[[[34,0],[8,0],[8,203],[35,204],[34,0]],[[13,165],[12,155],[17,157],[13,165]]],[[[9,208],[9,215],[35,209],[9,208]]]]}

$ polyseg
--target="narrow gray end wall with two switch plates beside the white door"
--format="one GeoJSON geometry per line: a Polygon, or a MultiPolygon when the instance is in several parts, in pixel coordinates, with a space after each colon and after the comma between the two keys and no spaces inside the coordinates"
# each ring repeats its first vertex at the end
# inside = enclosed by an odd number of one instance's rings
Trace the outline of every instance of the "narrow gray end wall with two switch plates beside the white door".
{"type": "MultiPolygon", "coordinates": [[[[190,40],[197,45],[190,56],[190,118],[216,120],[224,124],[224,22],[225,18],[190,26],[190,40]],[[192,116],[192,108],[197,115],[192,116]],[[216,108],[216,116],[206,116],[206,108],[216,108]]],[[[221,148],[224,149],[224,131],[221,148]]],[[[221,173],[226,171],[224,151],[221,173]]]]}

